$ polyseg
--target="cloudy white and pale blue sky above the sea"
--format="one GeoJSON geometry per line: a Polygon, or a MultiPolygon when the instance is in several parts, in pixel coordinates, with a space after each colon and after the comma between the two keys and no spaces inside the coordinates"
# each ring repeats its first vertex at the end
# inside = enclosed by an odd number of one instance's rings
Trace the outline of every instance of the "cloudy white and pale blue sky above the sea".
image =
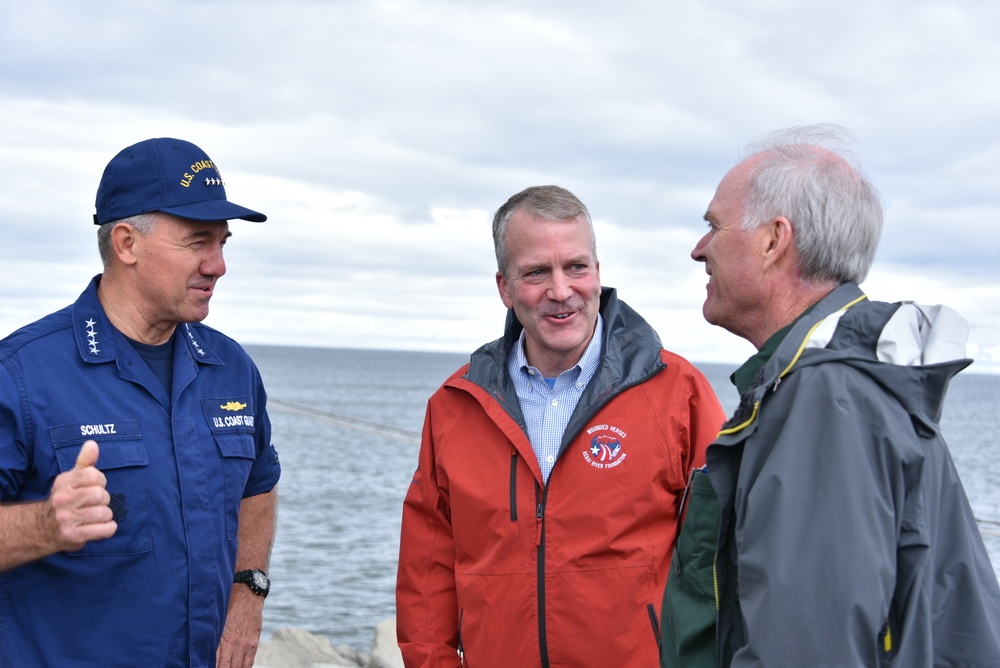
{"type": "Polygon", "coordinates": [[[501,334],[490,222],[557,184],[602,283],[698,363],[690,251],[747,143],[853,135],[886,226],[863,289],[946,303],[1000,373],[1000,3],[0,0],[0,331],[100,272],[107,162],[198,144],[233,221],[206,323],[245,344],[467,353],[501,334]]]}

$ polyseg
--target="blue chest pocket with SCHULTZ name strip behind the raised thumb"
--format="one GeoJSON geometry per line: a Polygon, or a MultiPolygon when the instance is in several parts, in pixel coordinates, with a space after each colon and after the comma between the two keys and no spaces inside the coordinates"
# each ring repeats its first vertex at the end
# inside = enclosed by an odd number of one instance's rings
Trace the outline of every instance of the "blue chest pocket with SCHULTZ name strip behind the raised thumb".
{"type": "Polygon", "coordinates": [[[100,447],[97,468],[107,478],[111,512],[118,529],[104,540],[91,541],[71,557],[125,556],[153,549],[149,518],[149,453],[135,420],[73,423],[49,428],[52,448],[61,473],[76,466],[84,441],[100,447]]]}

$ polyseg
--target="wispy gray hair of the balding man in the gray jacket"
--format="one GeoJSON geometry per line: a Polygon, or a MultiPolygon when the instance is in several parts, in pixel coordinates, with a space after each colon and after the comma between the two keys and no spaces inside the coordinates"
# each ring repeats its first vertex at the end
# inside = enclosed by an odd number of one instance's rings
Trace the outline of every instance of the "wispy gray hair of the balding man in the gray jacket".
{"type": "Polygon", "coordinates": [[[784,216],[795,230],[806,281],[860,283],[882,235],[878,192],[861,172],[849,133],[837,125],[787,128],[750,145],[741,227],[784,216]]]}

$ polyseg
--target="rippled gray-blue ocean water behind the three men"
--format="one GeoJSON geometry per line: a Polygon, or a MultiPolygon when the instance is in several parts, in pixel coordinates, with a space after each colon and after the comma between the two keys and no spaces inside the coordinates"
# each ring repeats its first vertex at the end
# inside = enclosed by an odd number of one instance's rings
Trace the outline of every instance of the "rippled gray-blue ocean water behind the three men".
{"type": "MultiPolygon", "coordinates": [[[[247,346],[282,464],[263,637],[296,626],[368,651],[395,614],[403,496],[428,397],[468,355],[247,346]]],[[[733,367],[698,364],[731,412],[733,367]]],[[[942,430],[1000,570],[1000,376],[951,383],[942,430]]]]}

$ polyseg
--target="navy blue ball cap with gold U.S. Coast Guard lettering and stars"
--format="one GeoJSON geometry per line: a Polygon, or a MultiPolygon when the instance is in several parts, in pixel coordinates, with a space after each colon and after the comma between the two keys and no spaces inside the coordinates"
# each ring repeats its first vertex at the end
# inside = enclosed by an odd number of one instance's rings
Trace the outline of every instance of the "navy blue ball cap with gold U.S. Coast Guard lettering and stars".
{"type": "Polygon", "coordinates": [[[204,151],[169,138],[133,144],[111,159],[97,188],[94,224],[152,211],[190,220],[267,220],[226,199],[219,168],[204,151]]]}

